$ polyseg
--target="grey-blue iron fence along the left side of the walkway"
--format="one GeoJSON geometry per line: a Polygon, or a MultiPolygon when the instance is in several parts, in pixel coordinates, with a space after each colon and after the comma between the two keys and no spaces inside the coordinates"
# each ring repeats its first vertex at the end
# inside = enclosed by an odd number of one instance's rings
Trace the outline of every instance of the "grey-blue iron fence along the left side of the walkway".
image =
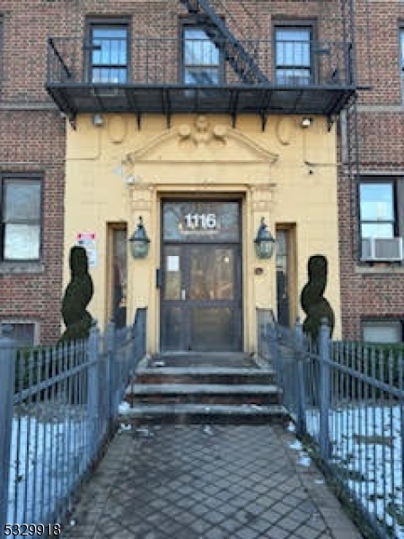
{"type": "Polygon", "coordinates": [[[145,309],[131,327],[110,323],[101,335],[94,325],[88,340],[55,347],[16,349],[0,339],[1,536],[7,524],[53,526],[66,517],[144,355],[145,309]]]}

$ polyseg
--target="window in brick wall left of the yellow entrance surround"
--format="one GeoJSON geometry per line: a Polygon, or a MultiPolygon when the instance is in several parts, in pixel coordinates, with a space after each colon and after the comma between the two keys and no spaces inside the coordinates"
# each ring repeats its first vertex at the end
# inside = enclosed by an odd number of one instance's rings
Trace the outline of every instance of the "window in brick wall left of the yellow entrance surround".
{"type": "Polygon", "coordinates": [[[42,182],[38,177],[0,176],[2,261],[38,261],[42,182]]]}

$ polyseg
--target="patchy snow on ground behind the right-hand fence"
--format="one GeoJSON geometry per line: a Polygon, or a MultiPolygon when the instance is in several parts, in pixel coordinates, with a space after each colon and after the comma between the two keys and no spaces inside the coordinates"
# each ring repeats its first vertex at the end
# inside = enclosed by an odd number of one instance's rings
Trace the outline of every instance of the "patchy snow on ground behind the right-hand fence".
{"type": "MultiPolygon", "coordinates": [[[[369,513],[404,539],[403,411],[397,406],[351,404],[329,412],[332,464],[369,513]],[[396,517],[393,519],[393,516],[396,517]]],[[[319,432],[318,411],[307,414],[307,429],[319,432]]]]}

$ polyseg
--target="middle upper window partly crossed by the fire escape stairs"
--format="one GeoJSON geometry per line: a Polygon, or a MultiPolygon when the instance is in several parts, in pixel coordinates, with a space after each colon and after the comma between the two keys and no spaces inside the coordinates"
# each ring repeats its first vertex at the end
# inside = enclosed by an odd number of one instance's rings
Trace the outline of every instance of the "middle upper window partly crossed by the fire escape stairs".
{"type": "Polygon", "coordinates": [[[183,27],[183,81],[185,84],[220,84],[221,54],[206,29],[183,27]]]}

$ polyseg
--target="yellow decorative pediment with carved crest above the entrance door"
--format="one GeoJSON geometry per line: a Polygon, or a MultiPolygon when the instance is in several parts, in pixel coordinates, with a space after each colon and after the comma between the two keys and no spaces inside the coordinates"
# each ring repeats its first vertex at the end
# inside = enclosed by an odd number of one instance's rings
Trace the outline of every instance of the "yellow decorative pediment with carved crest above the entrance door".
{"type": "Polygon", "coordinates": [[[205,116],[149,139],[126,156],[136,163],[275,163],[278,155],[260,146],[241,131],[212,125],[205,116]]]}

